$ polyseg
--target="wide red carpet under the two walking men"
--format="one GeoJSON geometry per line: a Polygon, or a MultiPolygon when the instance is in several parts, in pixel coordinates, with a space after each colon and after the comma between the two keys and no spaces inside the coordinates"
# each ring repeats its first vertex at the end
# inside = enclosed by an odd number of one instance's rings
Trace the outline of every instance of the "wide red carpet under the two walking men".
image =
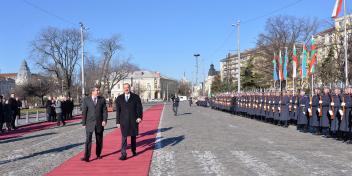
{"type": "MultiPolygon", "coordinates": [[[[103,159],[95,159],[95,145],[92,145],[92,156],[89,163],[80,161],[84,155],[82,151],[47,175],[148,175],[163,106],[155,105],[144,112],[143,121],[139,126],[140,135],[137,137],[137,156],[131,157],[131,150],[128,149],[127,160],[119,160],[121,132],[120,129],[115,129],[104,137],[103,159]]],[[[130,138],[127,141],[130,145],[130,138]]]]}

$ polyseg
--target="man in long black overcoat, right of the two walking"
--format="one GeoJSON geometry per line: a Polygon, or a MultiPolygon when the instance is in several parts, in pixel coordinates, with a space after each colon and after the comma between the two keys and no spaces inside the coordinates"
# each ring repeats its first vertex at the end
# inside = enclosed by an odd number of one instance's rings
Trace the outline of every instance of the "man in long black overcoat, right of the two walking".
{"type": "Polygon", "coordinates": [[[137,94],[130,92],[130,85],[123,85],[124,94],[118,96],[116,103],[116,127],[121,127],[121,157],[126,160],[127,136],[131,136],[131,150],[136,156],[136,136],[138,135],[138,124],[143,118],[143,107],[141,99],[137,94]]]}

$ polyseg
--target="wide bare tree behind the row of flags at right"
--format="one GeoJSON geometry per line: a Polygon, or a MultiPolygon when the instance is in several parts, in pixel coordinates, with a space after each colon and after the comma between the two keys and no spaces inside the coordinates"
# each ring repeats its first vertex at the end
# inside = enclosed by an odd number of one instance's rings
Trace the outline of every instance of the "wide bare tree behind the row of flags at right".
{"type": "MultiPolygon", "coordinates": [[[[319,23],[316,19],[298,18],[292,16],[276,16],[266,21],[265,31],[258,36],[257,48],[260,52],[261,61],[261,82],[269,82],[272,78],[272,60],[274,52],[284,51],[288,48],[288,53],[292,53],[292,47],[297,44],[297,48],[303,43],[309,44],[312,35],[316,33],[319,23]]],[[[299,55],[299,54],[297,54],[299,55]]],[[[291,60],[287,64],[288,70],[292,70],[291,60]]],[[[279,68],[279,67],[277,67],[279,68]]],[[[259,69],[259,68],[258,68],[259,69]]]]}

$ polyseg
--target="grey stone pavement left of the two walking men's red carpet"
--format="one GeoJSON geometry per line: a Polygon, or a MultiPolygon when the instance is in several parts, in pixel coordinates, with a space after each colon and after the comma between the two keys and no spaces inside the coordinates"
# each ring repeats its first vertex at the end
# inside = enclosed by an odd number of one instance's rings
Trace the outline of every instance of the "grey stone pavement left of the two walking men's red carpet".
{"type": "MultiPolygon", "coordinates": [[[[152,105],[143,104],[144,110],[152,105]]],[[[115,127],[115,114],[109,113],[104,135],[115,127]]],[[[85,130],[80,121],[0,140],[0,175],[44,175],[81,152],[84,142],[85,130]]]]}

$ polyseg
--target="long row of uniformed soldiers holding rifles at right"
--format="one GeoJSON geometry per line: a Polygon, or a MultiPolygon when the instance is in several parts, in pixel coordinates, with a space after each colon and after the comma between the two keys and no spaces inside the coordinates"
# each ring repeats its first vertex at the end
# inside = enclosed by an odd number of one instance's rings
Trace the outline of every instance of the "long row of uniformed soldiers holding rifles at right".
{"type": "Polygon", "coordinates": [[[274,125],[296,125],[301,132],[352,142],[352,88],[243,92],[220,94],[207,100],[213,109],[262,120],[274,125]]]}

